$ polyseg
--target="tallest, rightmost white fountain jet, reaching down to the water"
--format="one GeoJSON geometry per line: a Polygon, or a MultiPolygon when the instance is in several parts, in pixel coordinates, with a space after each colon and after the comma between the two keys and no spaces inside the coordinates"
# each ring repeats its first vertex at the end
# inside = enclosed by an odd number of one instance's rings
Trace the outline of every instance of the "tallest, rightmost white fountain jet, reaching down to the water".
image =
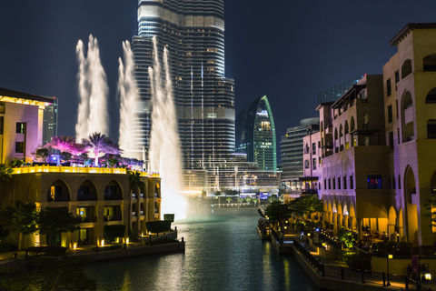
{"type": "Polygon", "coordinates": [[[178,220],[185,217],[186,199],[180,193],[182,172],[180,142],[173,105],[168,51],[166,48],[163,50],[165,69],[165,83],[163,85],[155,37],[153,42],[154,68],[148,68],[153,106],[149,171],[159,173],[162,178],[161,213],[174,214],[175,219],[178,220]]]}

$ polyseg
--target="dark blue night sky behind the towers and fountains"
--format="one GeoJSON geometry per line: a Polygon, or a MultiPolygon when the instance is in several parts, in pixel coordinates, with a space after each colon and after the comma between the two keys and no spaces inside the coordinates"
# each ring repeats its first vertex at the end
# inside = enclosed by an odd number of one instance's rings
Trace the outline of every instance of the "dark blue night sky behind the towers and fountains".
{"type": "MultiPolygon", "coordinates": [[[[164,0],[163,0],[164,1],[164,0]]],[[[75,45],[93,34],[108,77],[111,137],[122,42],[137,34],[137,0],[3,0],[0,87],[59,98],[59,135],[75,135],[75,45]]],[[[436,22],[436,1],[225,2],[226,76],[235,80],[236,113],[260,95],[272,105],[277,142],[286,128],[316,116],[317,92],[352,77],[381,74],[408,23],[436,22]]],[[[279,154],[279,152],[278,152],[279,154]]]]}

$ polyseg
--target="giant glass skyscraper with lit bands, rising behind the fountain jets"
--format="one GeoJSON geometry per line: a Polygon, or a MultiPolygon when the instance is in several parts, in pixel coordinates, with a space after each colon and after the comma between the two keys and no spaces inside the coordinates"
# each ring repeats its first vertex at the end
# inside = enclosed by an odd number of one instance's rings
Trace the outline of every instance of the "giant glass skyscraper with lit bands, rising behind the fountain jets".
{"type": "Polygon", "coordinates": [[[170,55],[184,168],[203,169],[206,161],[234,152],[234,82],[224,76],[223,2],[139,0],[138,36],[133,39],[140,95],[134,123],[137,150],[149,146],[148,67],[154,62],[155,36],[161,60],[164,47],[170,55]]]}

